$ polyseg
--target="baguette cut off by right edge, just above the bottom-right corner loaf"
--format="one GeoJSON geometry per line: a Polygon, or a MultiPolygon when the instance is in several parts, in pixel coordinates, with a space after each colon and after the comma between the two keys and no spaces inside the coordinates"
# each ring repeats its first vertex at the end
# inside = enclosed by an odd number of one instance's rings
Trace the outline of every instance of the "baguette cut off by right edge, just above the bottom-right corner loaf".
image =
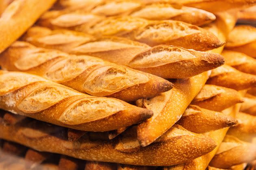
{"type": "Polygon", "coordinates": [[[228,134],[236,136],[240,140],[252,142],[253,138],[256,137],[256,117],[239,112],[236,114],[236,119],[239,123],[231,127],[228,134]]]}

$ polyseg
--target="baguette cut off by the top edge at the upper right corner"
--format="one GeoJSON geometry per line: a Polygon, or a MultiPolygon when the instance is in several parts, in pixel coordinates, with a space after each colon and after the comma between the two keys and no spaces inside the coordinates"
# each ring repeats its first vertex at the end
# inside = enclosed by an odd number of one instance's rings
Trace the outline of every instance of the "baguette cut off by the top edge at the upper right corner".
{"type": "MultiPolygon", "coordinates": [[[[67,0],[73,1],[73,0],[67,0]]],[[[155,3],[155,2],[168,2],[168,3],[177,3],[177,0],[139,0],[146,4],[155,3]]],[[[247,6],[253,5],[256,3],[255,0],[179,0],[179,4],[185,6],[191,6],[194,8],[200,8],[212,13],[226,11],[234,8],[246,8],[247,6]]]]}

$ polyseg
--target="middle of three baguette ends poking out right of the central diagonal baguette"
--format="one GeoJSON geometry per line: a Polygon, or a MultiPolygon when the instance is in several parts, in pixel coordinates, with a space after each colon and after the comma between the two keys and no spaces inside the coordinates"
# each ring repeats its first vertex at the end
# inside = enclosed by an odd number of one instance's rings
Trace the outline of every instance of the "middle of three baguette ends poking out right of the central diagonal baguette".
{"type": "Polygon", "coordinates": [[[191,104],[220,112],[241,102],[243,102],[242,96],[234,89],[216,85],[204,85],[191,104]]]}

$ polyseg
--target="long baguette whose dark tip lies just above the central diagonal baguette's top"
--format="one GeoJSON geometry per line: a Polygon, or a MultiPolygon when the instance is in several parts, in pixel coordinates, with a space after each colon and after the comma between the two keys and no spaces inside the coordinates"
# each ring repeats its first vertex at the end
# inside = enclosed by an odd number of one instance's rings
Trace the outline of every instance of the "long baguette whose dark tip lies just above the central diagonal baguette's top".
{"type": "Polygon", "coordinates": [[[93,39],[91,36],[79,32],[49,30],[43,27],[30,28],[23,40],[37,47],[59,49],[76,55],[100,57],[103,60],[166,79],[192,77],[224,63],[224,58],[215,53],[167,45],[150,48],[145,44],[126,38],[112,36],[93,39]],[[60,43],[61,39],[65,42],[60,43]],[[86,42],[81,44],[81,39],[86,42]]]}

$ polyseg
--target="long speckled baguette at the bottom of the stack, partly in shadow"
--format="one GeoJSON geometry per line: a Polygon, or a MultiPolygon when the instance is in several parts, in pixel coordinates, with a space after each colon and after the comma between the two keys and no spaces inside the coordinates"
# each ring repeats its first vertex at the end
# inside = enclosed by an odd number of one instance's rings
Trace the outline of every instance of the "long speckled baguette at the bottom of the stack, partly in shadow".
{"type": "Polygon", "coordinates": [[[99,138],[99,132],[88,132],[76,144],[69,142],[63,135],[64,127],[47,125],[35,119],[25,119],[7,126],[0,123],[0,130],[0,138],[19,142],[39,151],[91,161],[143,166],[180,164],[204,155],[216,147],[215,142],[208,136],[189,132],[178,125],[171,127],[148,147],[139,145],[136,140],[136,127],[111,141],[99,138]]]}

